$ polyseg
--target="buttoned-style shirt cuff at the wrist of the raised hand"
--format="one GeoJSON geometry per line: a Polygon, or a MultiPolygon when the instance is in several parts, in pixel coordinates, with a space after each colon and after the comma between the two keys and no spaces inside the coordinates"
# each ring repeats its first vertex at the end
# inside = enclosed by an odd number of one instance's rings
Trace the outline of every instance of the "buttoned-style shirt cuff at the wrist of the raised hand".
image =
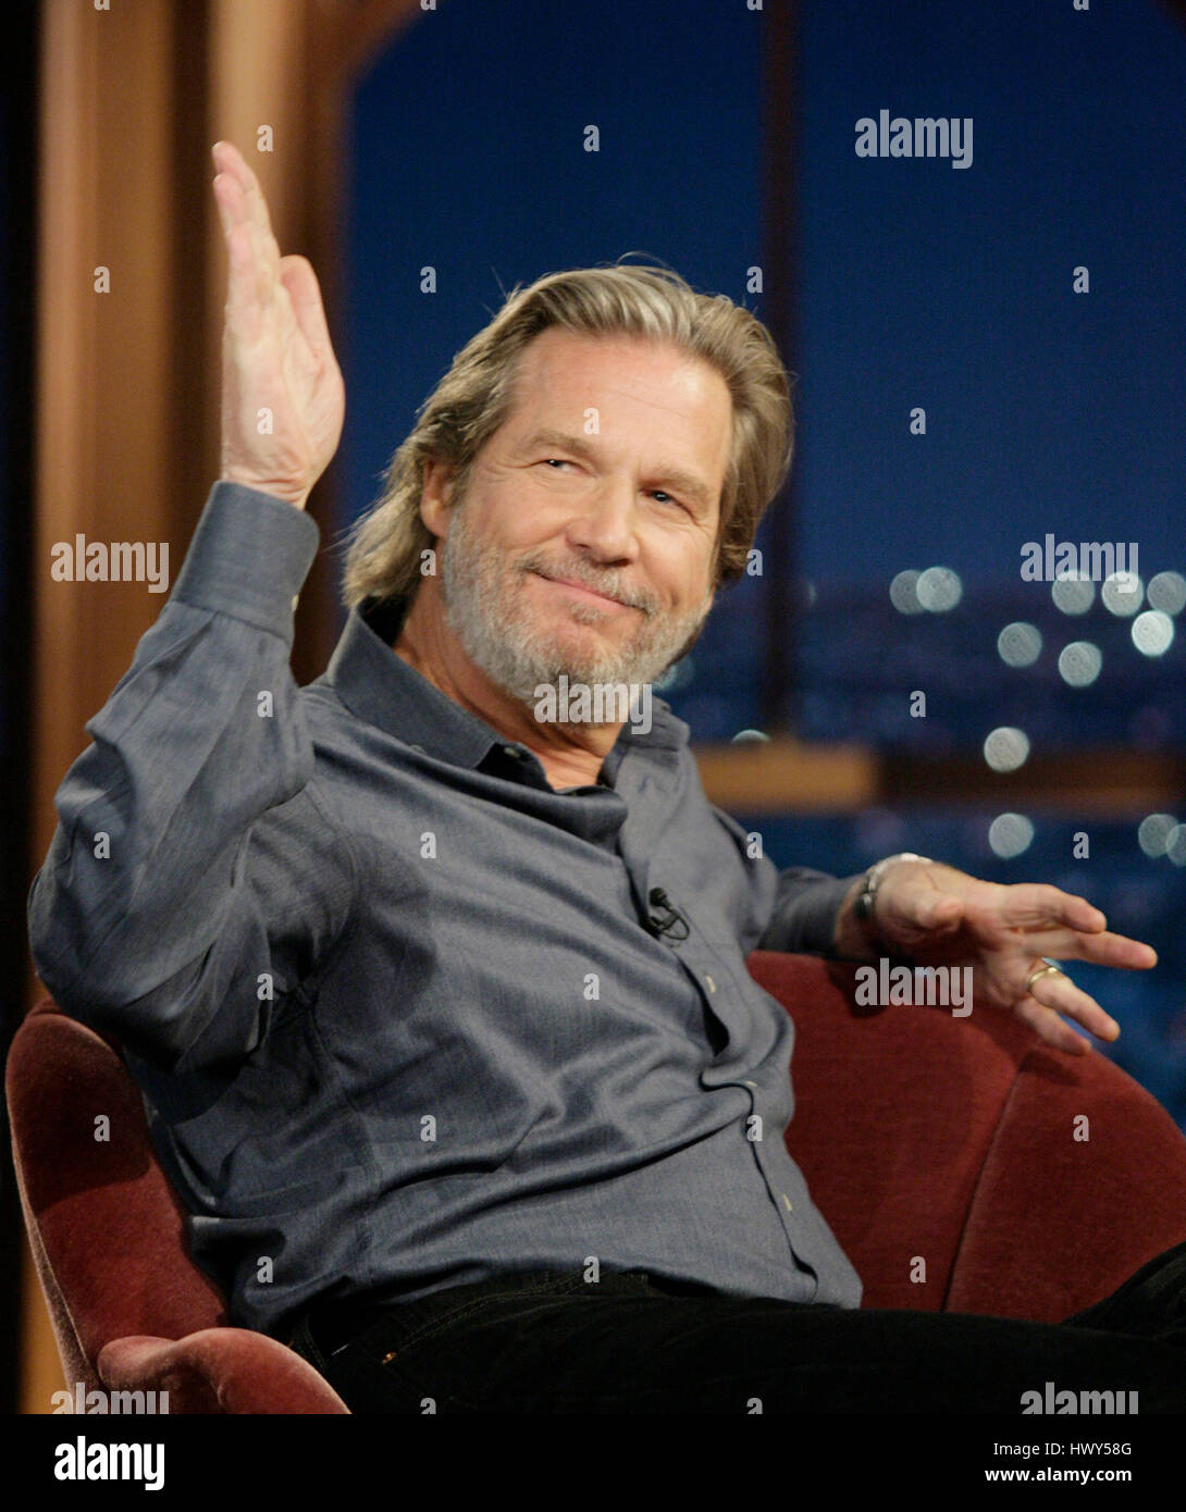
{"type": "Polygon", "coordinates": [[[271,493],[216,482],[171,599],[292,643],[295,600],[318,553],[318,522],[271,493]]]}

